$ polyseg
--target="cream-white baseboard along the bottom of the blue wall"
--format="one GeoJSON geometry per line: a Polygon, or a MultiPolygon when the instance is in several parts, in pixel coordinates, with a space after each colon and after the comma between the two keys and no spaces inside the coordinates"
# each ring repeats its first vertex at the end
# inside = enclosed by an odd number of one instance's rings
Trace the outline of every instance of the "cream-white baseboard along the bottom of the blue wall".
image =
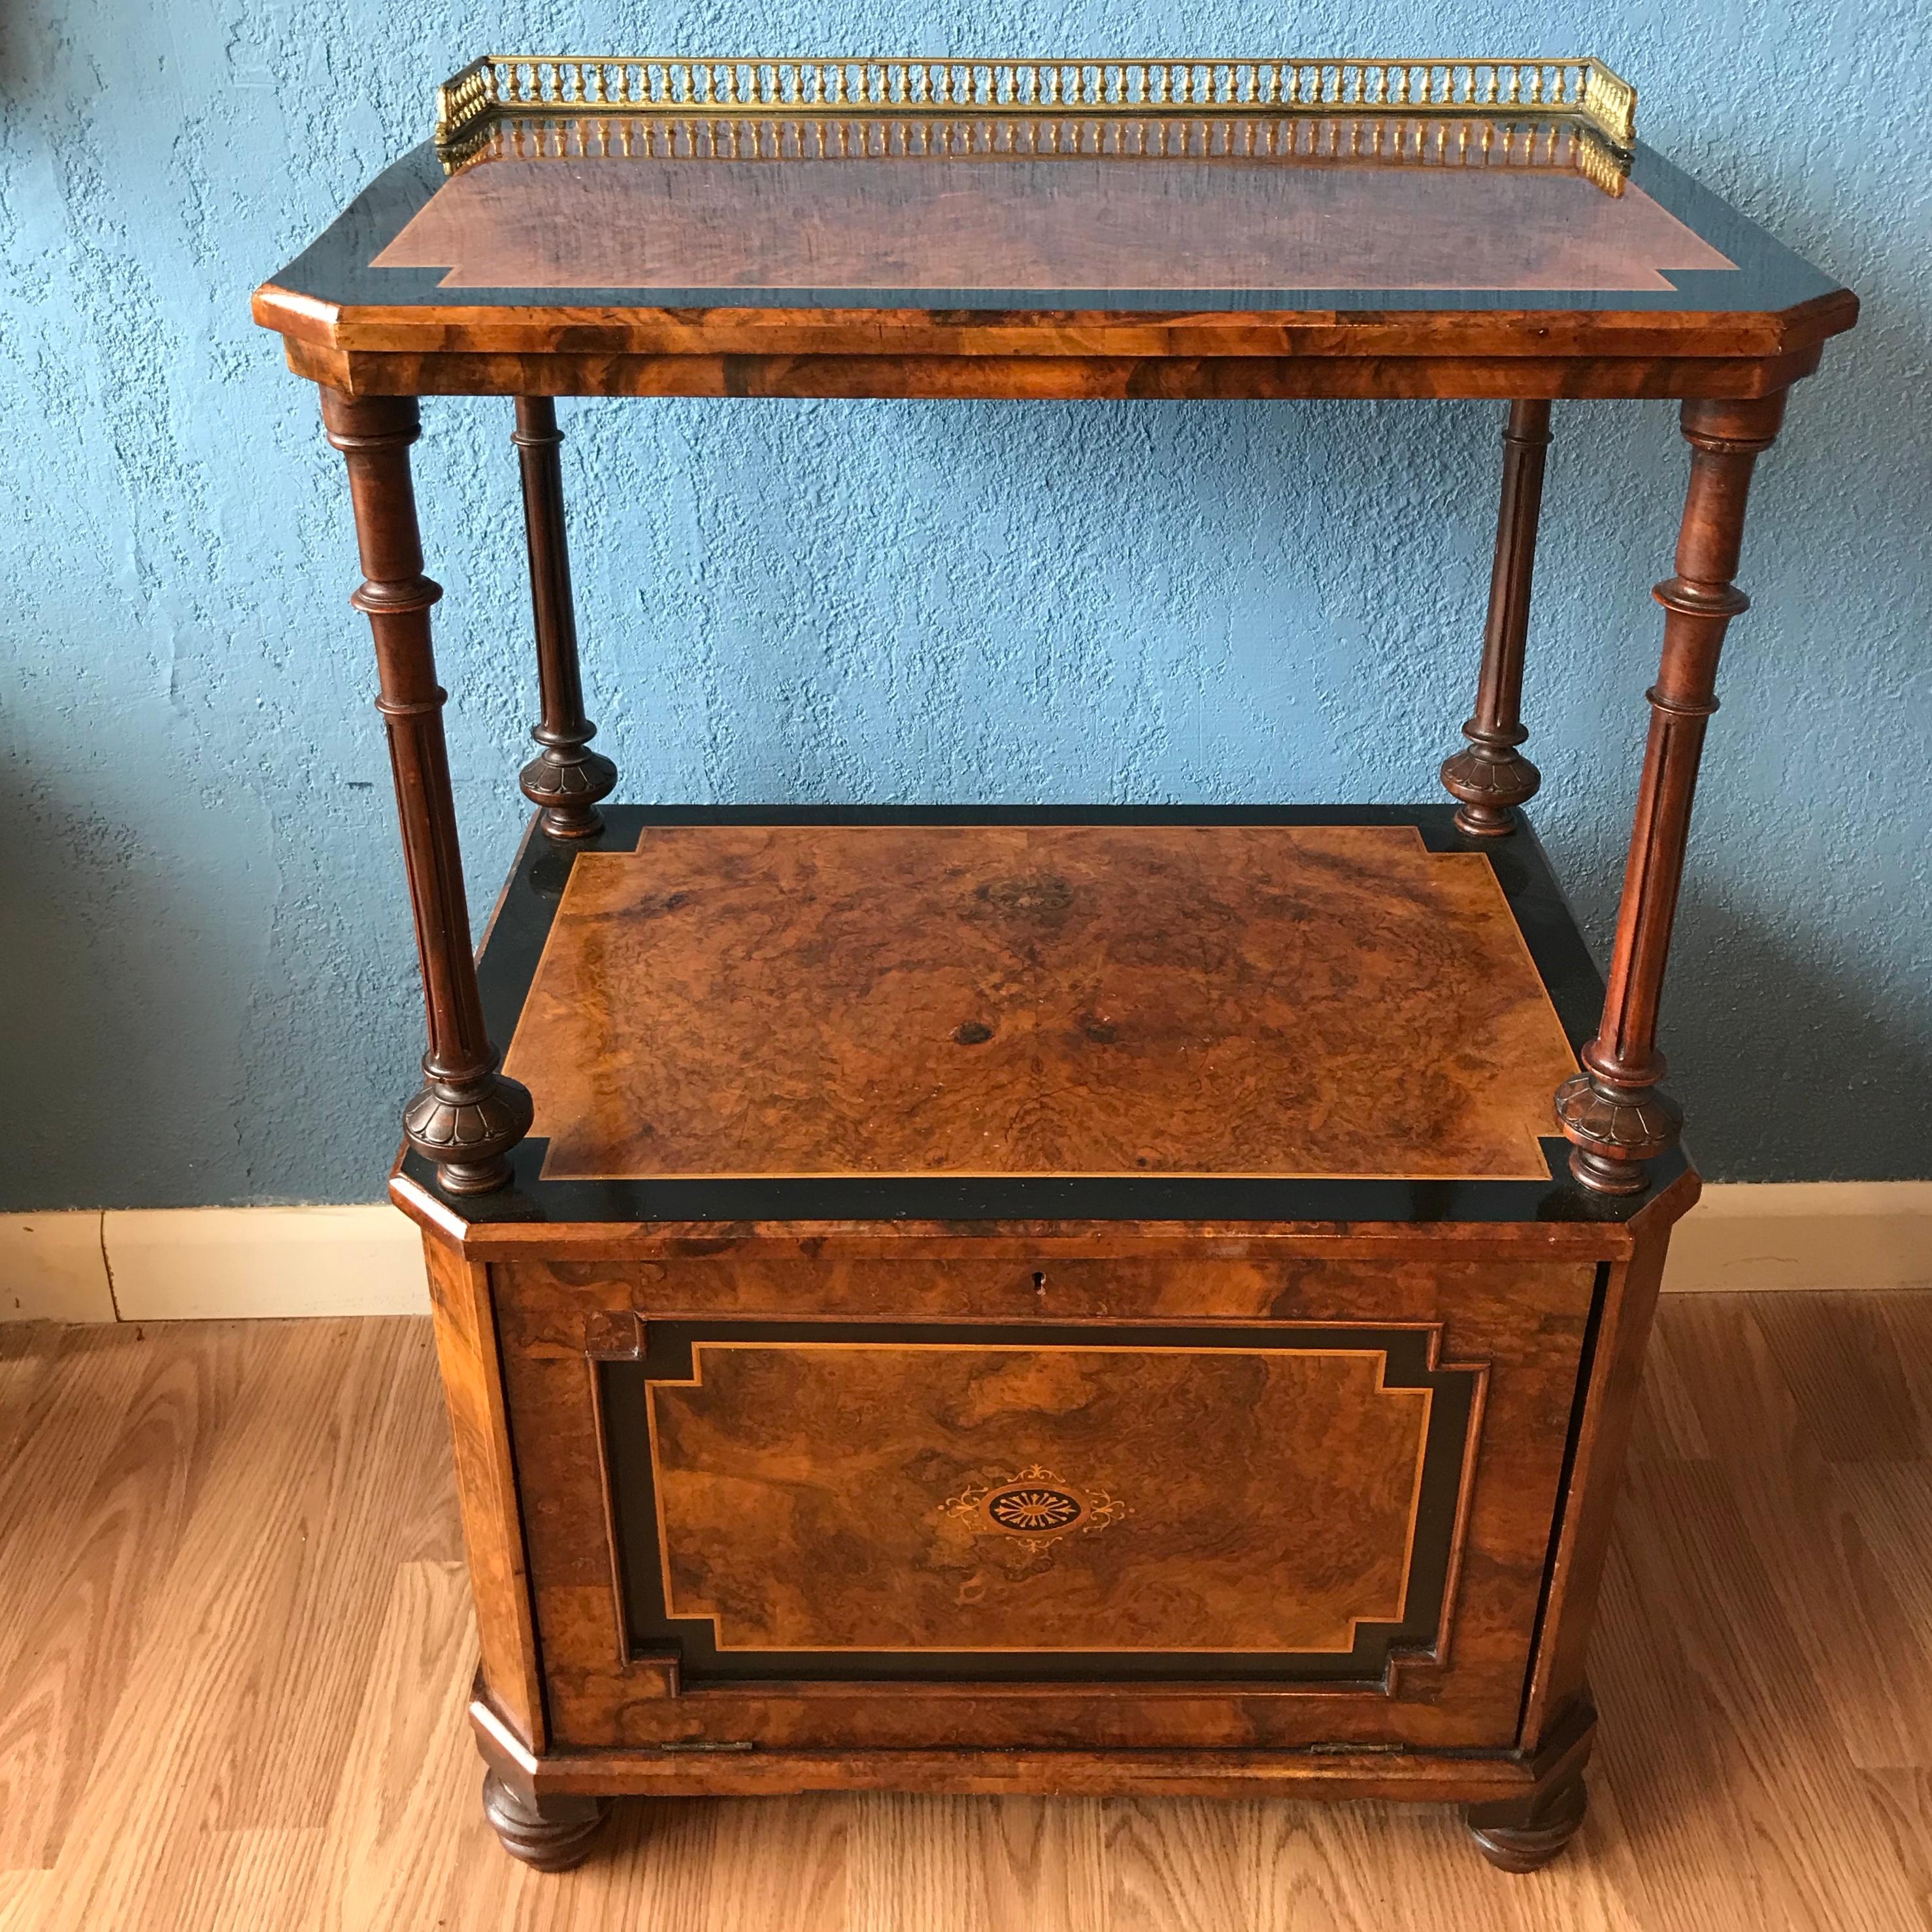
{"type": "MultiPolygon", "coordinates": [[[[1932,1180],[1708,1186],[1663,1287],[1928,1289],[1932,1180]]],[[[421,1236],[390,1206],[0,1215],[0,1321],[427,1310],[421,1236]]]]}

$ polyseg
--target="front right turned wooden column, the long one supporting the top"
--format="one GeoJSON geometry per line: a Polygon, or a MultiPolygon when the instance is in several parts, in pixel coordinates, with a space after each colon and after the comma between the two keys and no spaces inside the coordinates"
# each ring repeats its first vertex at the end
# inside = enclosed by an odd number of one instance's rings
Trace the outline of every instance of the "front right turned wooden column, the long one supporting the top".
{"type": "Polygon", "coordinates": [[[1750,468],[1777,437],[1785,398],[1687,402],[1690,489],[1677,535],[1677,574],[1652,593],[1663,605],[1663,661],[1650,688],[1650,744],[1636,788],[1631,858],[1623,873],[1617,943],[1604,1022],[1582,1049],[1580,1074],[1557,1088],[1557,1122],[1571,1138],[1571,1171],[1600,1194],[1636,1194],[1644,1161],[1677,1140],[1683,1111],[1658,1092],[1658,999],[1677,916],[1690,796],[1704,721],[1718,709],[1718,651],[1748,599],[1731,582],[1745,535],[1750,468]]]}

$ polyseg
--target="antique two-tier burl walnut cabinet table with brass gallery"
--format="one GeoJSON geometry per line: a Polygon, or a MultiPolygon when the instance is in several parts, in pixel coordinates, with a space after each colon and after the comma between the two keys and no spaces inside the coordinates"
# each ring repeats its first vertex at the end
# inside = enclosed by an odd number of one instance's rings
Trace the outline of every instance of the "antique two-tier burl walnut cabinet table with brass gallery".
{"type": "Polygon", "coordinates": [[[1658,995],[1752,464],[1857,305],[1598,62],[487,58],[255,298],[321,388],[429,1007],[394,1200],[485,1806],[1582,1820],[1671,1223],[1658,995]],[[410,489],[516,398],[535,808],[479,954],[410,489]],[[605,808],[554,396],[1507,402],[1455,804],[605,808]],[[1607,989],[1520,815],[1549,406],[1683,400],[1607,989]]]}

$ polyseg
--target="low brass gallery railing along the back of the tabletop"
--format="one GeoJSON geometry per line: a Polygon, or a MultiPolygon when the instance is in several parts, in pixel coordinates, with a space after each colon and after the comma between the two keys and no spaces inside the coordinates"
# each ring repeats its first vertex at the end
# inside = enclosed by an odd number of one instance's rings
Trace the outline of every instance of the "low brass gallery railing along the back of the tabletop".
{"type": "Polygon", "coordinates": [[[1565,120],[1617,153],[1636,89],[1600,60],[692,60],[485,54],[437,89],[460,166],[504,114],[1291,114],[1565,120]]]}

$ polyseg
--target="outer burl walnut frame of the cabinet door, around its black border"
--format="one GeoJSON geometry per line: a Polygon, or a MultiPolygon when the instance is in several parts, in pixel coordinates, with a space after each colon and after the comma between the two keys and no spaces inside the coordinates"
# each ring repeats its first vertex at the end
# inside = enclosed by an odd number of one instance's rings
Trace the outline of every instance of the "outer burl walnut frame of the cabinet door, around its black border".
{"type": "MultiPolygon", "coordinates": [[[[1563,1435],[1590,1310],[1588,1264],[1059,1260],[508,1264],[493,1269],[510,1430],[526,1497],[537,1629],[556,1747],[639,1748],[757,1739],[771,1748],[898,1750],[931,1745],[1250,1747],[1358,1741],[1509,1747],[1517,1741],[1563,1435]],[[1047,1279],[1045,1294],[1034,1275],[1047,1279]],[[1320,1683],[995,1685],[753,1683],[676,1696],[657,1658],[622,1662],[603,1461],[585,1372],[585,1325],[730,1312],[904,1320],[1179,1320],[1441,1323],[1445,1364],[1488,1368],[1478,1476],[1441,1662],[1399,1662],[1397,1694],[1320,1683]],[[1049,1306],[1041,1310],[1041,1300],[1049,1306]]],[[[1016,1410],[1020,1414],[1020,1410],[1016,1410]]],[[[1063,1470],[1063,1474],[1072,1474],[1063,1470]]],[[[1105,1538],[1095,1538],[1103,1542],[1105,1538]]],[[[827,1557],[838,1563],[837,1555],[827,1557]]],[[[755,1754],[753,1754],[755,1756],[755,1754]]],[[[694,1760],[682,1758],[688,1768],[694,1760]]],[[[667,1760],[668,1768],[668,1760],[667,1760]]],[[[723,1760],[707,1762],[715,1776],[723,1760]]],[[[1333,1770],[1345,1770],[1335,1760],[1333,1770]]],[[[595,1776],[609,1776],[597,1766],[595,1776]]],[[[755,1776],[755,1766],[753,1766],[755,1776]]],[[[991,1776],[991,1774],[989,1774],[991,1776]]],[[[1065,1776],[1065,1774],[1055,1774],[1065,1776]]],[[[1520,1776],[1520,1774],[1511,1774],[1520,1776]]],[[[667,1789],[678,1789],[672,1781],[667,1789]]],[[[1047,1789],[1053,1785],[1047,1783],[1047,1789]]],[[[583,1789],[595,1789],[585,1783],[583,1789]]],[[[611,1789],[628,1789],[612,1785],[611,1789]]]]}

